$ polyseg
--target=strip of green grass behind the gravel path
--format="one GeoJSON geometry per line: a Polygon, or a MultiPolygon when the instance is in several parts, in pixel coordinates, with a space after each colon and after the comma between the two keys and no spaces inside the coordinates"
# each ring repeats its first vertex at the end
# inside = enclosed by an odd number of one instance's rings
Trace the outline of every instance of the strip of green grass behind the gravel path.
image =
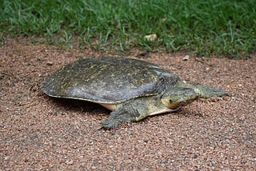
{"type": "Polygon", "coordinates": [[[255,0],[0,0],[0,40],[26,35],[98,50],[244,58],[256,51],[255,6],[255,0]],[[147,34],[158,40],[147,42],[147,34]]]}

